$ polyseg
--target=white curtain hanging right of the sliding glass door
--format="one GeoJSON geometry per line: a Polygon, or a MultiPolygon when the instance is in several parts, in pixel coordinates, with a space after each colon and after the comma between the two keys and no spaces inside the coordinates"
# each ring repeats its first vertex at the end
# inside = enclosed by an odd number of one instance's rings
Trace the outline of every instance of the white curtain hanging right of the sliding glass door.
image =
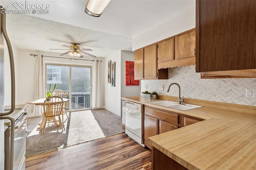
{"type": "Polygon", "coordinates": [[[93,63],[93,84],[92,84],[92,109],[102,107],[102,89],[101,89],[101,61],[93,63]]]}

